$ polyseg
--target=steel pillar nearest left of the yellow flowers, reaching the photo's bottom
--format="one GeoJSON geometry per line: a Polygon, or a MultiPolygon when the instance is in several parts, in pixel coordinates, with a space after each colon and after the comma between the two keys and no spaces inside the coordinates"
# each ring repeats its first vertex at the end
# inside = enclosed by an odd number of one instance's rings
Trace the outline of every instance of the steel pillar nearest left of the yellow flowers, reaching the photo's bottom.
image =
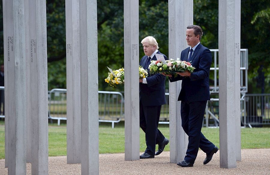
{"type": "Polygon", "coordinates": [[[97,0],[79,1],[82,174],[98,174],[97,0]]]}

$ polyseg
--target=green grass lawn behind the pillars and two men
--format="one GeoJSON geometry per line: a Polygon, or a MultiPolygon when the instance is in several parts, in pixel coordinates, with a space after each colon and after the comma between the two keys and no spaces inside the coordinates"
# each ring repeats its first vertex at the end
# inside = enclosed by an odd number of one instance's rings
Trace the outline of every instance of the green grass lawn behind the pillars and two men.
{"type": "MultiPolygon", "coordinates": [[[[159,130],[165,137],[169,137],[169,125],[159,125],[159,130]]],[[[49,156],[67,155],[66,125],[49,123],[49,156]]],[[[202,133],[208,140],[219,146],[219,129],[202,128],[202,133]]],[[[270,148],[270,128],[242,128],[241,148],[257,149],[270,148]]],[[[140,151],[146,148],[145,135],[140,129],[140,151]]],[[[170,143],[164,151],[170,150],[170,143]]],[[[111,128],[111,123],[101,123],[99,126],[99,152],[100,153],[120,153],[125,151],[125,128],[124,123],[115,124],[111,128]]],[[[4,158],[4,122],[0,121],[0,159],[4,158]]]]}

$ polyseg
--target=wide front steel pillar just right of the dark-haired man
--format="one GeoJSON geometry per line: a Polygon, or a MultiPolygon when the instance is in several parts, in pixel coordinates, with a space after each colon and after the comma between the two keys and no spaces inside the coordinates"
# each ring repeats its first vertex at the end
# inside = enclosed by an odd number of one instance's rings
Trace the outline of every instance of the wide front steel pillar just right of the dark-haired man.
{"type": "Polygon", "coordinates": [[[218,6],[220,167],[235,168],[235,0],[218,6]]]}

